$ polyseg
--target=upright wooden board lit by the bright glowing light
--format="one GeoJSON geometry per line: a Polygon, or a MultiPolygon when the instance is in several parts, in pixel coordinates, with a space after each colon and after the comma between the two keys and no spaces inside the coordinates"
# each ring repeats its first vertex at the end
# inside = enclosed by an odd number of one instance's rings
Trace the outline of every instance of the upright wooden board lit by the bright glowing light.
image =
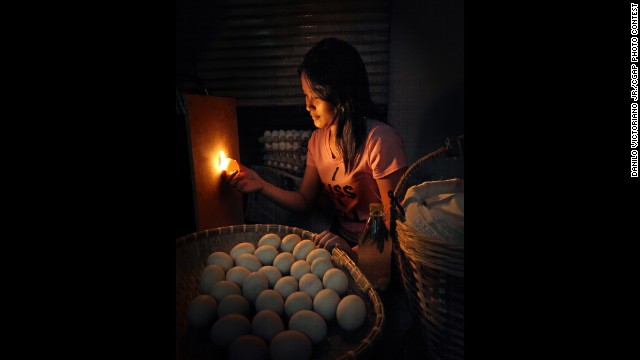
{"type": "Polygon", "coordinates": [[[240,162],[236,100],[185,95],[198,231],[244,222],[242,194],[222,178],[220,151],[240,162]]]}

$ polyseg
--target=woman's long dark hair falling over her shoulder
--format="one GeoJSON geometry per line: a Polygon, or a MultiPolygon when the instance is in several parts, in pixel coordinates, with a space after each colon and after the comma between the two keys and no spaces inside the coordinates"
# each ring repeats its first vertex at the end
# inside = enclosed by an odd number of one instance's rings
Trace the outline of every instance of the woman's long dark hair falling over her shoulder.
{"type": "Polygon", "coordinates": [[[336,108],[336,140],[345,172],[353,170],[362,157],[367,136],[366,118],[385,121],[371,100],[369,77],[358,51],[349,43],[326,38],[307,52],[298,66],[311,89],[336,108]]]}

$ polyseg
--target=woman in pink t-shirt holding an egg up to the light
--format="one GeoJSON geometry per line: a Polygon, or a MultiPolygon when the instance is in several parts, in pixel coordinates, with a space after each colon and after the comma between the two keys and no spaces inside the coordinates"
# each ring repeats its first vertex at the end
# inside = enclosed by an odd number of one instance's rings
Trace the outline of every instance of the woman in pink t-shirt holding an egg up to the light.
{"type": "MultiPolygon", "coordinates": [[[[290,211],[306,211],[321,189],[337,210],[337,234],[323,231],[318,246],[338,247],[357,261],[358,236],[369,204],[389,212],[394,190],[407,167],[397,132],[384,123],[369,95],[369,79],[358,51],[336,38],[317,43],[298,67],[306,109],[318,128],[309,139],[307,163],[297,191],[278,188],[241,166],[230,183],[242,192],[259,191],[290,211]]],[[[386,218],[387,228],[389,217],[386,218]]]]}

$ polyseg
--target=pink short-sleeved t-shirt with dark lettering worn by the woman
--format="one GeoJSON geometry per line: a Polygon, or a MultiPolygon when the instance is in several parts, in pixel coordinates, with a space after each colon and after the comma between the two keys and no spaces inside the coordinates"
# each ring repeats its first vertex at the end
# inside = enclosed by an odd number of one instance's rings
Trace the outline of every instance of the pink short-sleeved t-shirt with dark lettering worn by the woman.
{"type": "Polygon", "coordinates": [[[348,175],[345,175],[342,156],[335,159],[331,156],[328,128],[316,129],[311,134],[307,151],[307,166],[318,170],[324,191],[335,205],[341,227],[339,235],[352,245],[357,244],[364,230],[369,204],[381,202],[375,179],[407,166],[404,145],[393,127],[367,120],[367,130],[362,157],[348,175]]]}

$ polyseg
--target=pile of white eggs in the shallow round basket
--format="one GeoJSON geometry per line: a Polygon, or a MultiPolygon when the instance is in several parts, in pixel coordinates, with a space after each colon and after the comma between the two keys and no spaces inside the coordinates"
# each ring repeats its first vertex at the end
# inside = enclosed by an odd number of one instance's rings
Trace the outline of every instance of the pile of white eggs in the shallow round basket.
{"type": "Polygon", "coordinates": [[[354,331],[365,321],[362,298],[347,294],[347,275],[331,254],[297,234],[266,234],[209,255],[190,326],[210,328],[229,359],[309,359],[336,321],[354,331]]]}

